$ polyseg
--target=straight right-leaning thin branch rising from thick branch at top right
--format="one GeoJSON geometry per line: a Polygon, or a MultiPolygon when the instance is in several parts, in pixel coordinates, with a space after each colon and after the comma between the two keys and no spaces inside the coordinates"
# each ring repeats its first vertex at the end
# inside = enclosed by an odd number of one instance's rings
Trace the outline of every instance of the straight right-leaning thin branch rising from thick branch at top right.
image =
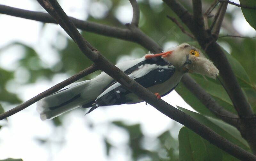
{"type": "Polygon", "coordinates": [[[220,14],[218,15],[218,18],[216,20],[216,23],[215,23],[213,31],[212,31],[212,35],[214,35],[214,37],[216,37],[216,38],[219,36],[220,28],[221,28],[227,7],[228,7],[228,3],[220,4],[220,14]]]}

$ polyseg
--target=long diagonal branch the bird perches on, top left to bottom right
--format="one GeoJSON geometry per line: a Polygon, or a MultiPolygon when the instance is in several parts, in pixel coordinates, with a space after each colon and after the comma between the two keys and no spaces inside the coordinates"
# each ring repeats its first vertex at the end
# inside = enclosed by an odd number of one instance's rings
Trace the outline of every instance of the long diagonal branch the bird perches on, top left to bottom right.
{"type": "MultiPolygon", "coordinates": [[[[41,0],[37,0],[37,1],[42,3],[41,0]]],[[[46,0],[43,0],[43,1],[45,2],[46,0]]],[[[127,89],[134,92],[140,98],[146,100],[150,105],[156,107],[156,109],[158,109],[160,112],[184,124],[188,128],[191,128],[193,131],[201,135],[203,138],[206,138],[214,145],[220,147],[222,150],[225,150],[231,155],[244,161],[256,160],[256,156],[250,154],[249,152],[243,150],[242,148],[236,146],[235,144],[228,142],[227,139],[221,137],[220,135],[212,131],[210,128],[204,126],[200,122],[191,118],[189,115],[181,112],[180,110],[174,108],[173,106],[170,106],[163,100],[156,99],[153,93],[149,92],[140,84],[132,80],[132,78],[128,77],[124,72],[119,70],[116,66],[110,63],[106,58],[104,58],[99,51],[96,51],[96,52],[89,51],[88,50],[89,48],[86,46],[86,43],[84,43],[84,41],[86,40],[84,40],[84,38],[79,34],[75,25],[72,23],[72,21],[69,20],[68,16],[61,9],[57,1],[56,0],[49,0],[49,1],[51,2],[54,10],[47,8],[47,6],[45,6],[45,9],[49,11],[52,16],[54,16],[54,13],[52,13],[52,11],[57,13],[58,16],[54,17],[56,18],[56,21],[59,22],[59,19],[58,19],[59,17],[62,19],[60,20],[60,22],[64,22],[65,24],[64,25],[61,24],[61,26],[66,26],[68,28],[68,30],[71,32],[73,38],[76,40],[77,45],[82,50],[84,55],[88,56],[88,58],[94,61],[96,65],[99,65],[100,69],[104,69],[104,71],[107,74],[109,74],[111,77],[116,79],[120,84],[124,85],[127,89]],[[90,53],[87,53],[87,52],[90,52],[90,53]],[[91,56],[96,54],[97,54],[97,57],[91,56]],[[93,59],[95,57],[96,59],[93,59]],[[127,85],[126,83],[129,83],[129,85],[127,85]]]]}

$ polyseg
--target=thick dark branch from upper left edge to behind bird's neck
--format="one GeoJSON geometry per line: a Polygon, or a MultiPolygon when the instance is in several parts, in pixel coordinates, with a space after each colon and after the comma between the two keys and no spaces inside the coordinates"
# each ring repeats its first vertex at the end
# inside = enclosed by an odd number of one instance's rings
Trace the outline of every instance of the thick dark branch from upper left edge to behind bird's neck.
{"type": "MultiPolygon", "coordinates": [[[[27,10],[22,10],[14,7],[9,7],[9,6],[4,6],[0,5],[0,13],[12,15],[12,16],[17,16],[21,18],[27,18],[27,19],[33,19],[37,21],[42,21],[42,22],[48,22],[48,23],[56,23],[56,21],[48,14],[48,13],[43,13],[43,12],[36,12],[36,11],[27,11],[27,10]]],[[[111,26],[106,26],[106,25],[101,25],[101,24],[96,24],[92,22],[87,22],[87,21],[82,21],[78,20],[76,18],[69,17],[72,22],[76,25],[76,27],[89,31],[89,32],[94,32],[98,34],[103,34],[106,36],[111,36],[115,38],[121,38],[125,40],[129,40],[132,42],[137,42],[144,48],[147,48],[149,51],[153,53],[159,53],[163,51],[163,49],[151,38],[148,37],[145,33],[143,33],[138,27],[134,25],[128,26],[129,29],[119,29],[116,27],[111,27],[111,26]]],[[[189,76],[187,76],[189,77],[189,76]]],[[[193,80],[193,78],[190,77],[190,79],[193,80]]],[[[187,86],[188,89],[192,88],[191,86],[187,86]]],[[[191,89],[190,89],[191,90],[191,89]]],[[[205,92],[205,91],[204,91],[205,92]]],[[[199,97],[199,96],[197,96],[199,97]]],[[[200,98],[200,97],[199,97],[200,98]]],[[[204,100],[201,100],[204,102],[204,100]]],[[[224,115],[221,113],[220,110],[214,109],[215,106],[212,107],[214,111],[219,111],[218,115],[222,116],[224,115]]],[[[215,113],[217,114],[217,113],[215,113]]]]}

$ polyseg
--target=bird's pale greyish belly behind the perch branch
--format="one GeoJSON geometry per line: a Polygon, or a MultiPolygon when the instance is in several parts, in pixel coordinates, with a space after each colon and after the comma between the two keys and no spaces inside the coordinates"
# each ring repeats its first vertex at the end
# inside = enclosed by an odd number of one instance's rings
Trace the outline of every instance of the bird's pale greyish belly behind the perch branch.
{"type": "MultiPolygon", "coordinates": [[[[160,95],[164,95],[165,93],[172,90],[179,82],[181,77],[183,76],[183,73],[175,72],[170,79],[165,81],[162,84],[156,84],[152,87],[147,88],[152,93],[159,93],[160,95]]],[[[127,102],[126,104],[134,104],[142,102],[143,100],[140,99],[138,96],[136,96],[134,93],[129,93],[125,96],[127,100],[132,100],[127,102]]]]}

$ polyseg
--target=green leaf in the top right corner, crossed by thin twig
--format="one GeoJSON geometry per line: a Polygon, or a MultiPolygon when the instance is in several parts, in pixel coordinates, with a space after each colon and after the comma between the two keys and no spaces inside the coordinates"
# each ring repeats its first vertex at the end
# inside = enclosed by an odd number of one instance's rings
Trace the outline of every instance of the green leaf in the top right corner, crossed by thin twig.
{"type": "MultiPolygon", "coordinates": [[[[240,0],[240,4],[243,6],[248,7],[256,7],[256,1],[255,0],[240,0]]],[[[255,9],[248,9],[241,7],[242,12],[244,14],[244,18],[246,21],[256,30],[256,10],[255,9]]]]}

